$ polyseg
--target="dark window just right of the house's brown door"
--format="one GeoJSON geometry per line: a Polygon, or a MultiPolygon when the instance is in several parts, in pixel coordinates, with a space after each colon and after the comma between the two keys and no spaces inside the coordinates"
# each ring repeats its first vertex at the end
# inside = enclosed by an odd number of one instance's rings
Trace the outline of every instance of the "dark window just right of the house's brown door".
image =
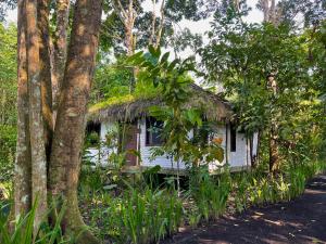
{"type": "Polygon", "coordinates": [[[146,118],[146,145],[161,145],[163,121],[153,117],[146,118]]]}

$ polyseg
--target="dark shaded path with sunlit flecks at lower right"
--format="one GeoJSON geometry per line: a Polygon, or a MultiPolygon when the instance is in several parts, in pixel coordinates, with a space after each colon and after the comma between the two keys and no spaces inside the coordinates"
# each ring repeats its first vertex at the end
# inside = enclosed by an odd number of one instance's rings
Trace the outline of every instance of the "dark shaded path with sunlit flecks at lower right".
{"type": "Polygon", "coordinates": [[[250,208],[196,230],[185,230],[171,243],[326,243],[326,176],[313,179],[299,198],[250,208]]]}

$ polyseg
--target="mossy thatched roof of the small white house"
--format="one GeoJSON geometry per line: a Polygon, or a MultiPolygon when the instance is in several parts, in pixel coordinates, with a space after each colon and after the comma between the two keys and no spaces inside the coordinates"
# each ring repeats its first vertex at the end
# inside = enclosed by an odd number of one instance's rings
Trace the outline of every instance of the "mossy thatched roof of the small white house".
{"type": "MultiPolygon", "coordinates": [[[[185,108],[196,107],[203,111],[208,120],[229,120],[231,117],[230,104],[218,95],[190,85],[192,97],[185,108]]],[[[149,107],[153,105],[163,106],[160,94],[150,95],[126,95],[118,100],[95,104],[88,110],[88,120],[93,121],[118,121],[133,120],[149,114],[149,107]]]]}

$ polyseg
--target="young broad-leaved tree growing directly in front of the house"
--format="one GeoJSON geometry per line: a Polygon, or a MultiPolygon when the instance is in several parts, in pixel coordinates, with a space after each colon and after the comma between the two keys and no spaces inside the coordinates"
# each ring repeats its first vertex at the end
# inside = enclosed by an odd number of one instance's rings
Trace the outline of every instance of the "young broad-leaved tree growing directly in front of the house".
{"type": "Polygon", "coordinates": [[[164,121],[162,138],[164,144],[160,152],[167,153],[179,160],[186,160],[190,166],[206,156],[208,162],[214,159],[223,160],[223,150],[218,144],[198,147],[193,145],[188,133],[195,127],[202,127],[201,111],[198,108],[187,108],[187,103],[191,99],[190,85],[193,80],[188,75],[189,72],[198,72],[195,68],[192,59],[185,61],[168,61],[170,53],[161,53],[160,49],[149,47],[147,53],[136,53],[128,61],[140,67],[138,80],[141,84],[153,84],[161,90],[162,100],[165,106],[153,106],[151,115],[164,121]]]}

